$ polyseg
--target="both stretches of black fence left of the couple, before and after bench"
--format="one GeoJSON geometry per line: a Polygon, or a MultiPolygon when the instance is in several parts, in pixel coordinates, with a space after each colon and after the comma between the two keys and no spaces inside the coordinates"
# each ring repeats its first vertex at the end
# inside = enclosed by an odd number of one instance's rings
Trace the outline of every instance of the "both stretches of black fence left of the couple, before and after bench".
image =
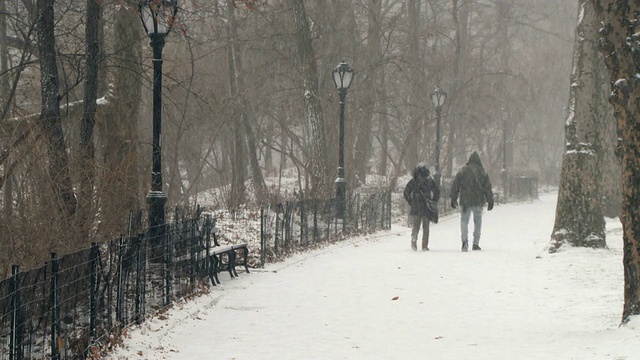
{"type": "MultiPolygon", "coordinates": [[[[353,195],[346,219],[333,200],[300,199],[262,208],[264,262],[347,234],[388,229],[391,194],[353,195]],[[267,255],[274,254],[274,256],[267,255]]],[[[155,231],[120,236],[0,281],[0,360],[98,358],[128,325],[210,283],[215,219],[177,212],[155,231]]],[[[248,239],[243,239],[247,241],[248,239]]]]}

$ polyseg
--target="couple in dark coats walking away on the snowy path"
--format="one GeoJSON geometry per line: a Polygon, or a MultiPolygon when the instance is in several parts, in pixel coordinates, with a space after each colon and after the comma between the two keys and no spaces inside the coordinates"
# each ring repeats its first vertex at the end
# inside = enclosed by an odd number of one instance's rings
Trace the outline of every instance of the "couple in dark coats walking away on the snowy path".
{"type": "MultiPolygon", "coordinates": [[[[419,164],[413,171],[413,178],[409,180],[403,192],[405,200],[411,206],[409,215],[412,222],[411,249],[417,250],[418,233],[422,225],[422,250],[429,250],[429,222],[438,222],[437,202],[440,199],[440,185],[429,176],[429,169],[419,164]]],[[[451,207],[458,208],[460,198],[460,237],[462,251],[469,249],[469,219],[473,214],[473,246],[472,250],[481,250],[480,233],[482,230],[482,210],[487,204],[487,210],[493,209],[493,192],[491,180],[482,166],[480,155],[473,152],[467,164],[456,174],[451,185],[451,207]]]]}

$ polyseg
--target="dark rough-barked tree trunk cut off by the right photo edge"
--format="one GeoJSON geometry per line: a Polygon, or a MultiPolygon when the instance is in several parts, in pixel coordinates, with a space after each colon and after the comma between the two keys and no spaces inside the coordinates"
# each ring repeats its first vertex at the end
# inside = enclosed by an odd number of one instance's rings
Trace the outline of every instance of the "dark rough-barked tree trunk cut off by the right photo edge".
{"type": "Polygon", "coordinates": [[[640,36],[638,1],[589,0],[600,29],[598,44],[611,80],[609,101],[618,120],[621,158],[624,306],[622,323],[640,315],[640,36]]]}

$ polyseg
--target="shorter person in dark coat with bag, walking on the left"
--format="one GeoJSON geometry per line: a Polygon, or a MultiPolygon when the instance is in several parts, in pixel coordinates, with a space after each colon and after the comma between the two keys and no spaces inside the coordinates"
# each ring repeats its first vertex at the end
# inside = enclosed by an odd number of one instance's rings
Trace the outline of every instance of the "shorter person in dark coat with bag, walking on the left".
{"type": "Polygon", "coordinates": [[[411,206],[411,249],[418,250],[418,232],[422,224],[422,250],[429,251],[429,220],[437,222],[438,210],[435,204],[440,198],[440,188],[429,176],[429,169],[425,165],[419,164],[413,170],[413,179],[404,188],[403,196],[411,206]]]}

